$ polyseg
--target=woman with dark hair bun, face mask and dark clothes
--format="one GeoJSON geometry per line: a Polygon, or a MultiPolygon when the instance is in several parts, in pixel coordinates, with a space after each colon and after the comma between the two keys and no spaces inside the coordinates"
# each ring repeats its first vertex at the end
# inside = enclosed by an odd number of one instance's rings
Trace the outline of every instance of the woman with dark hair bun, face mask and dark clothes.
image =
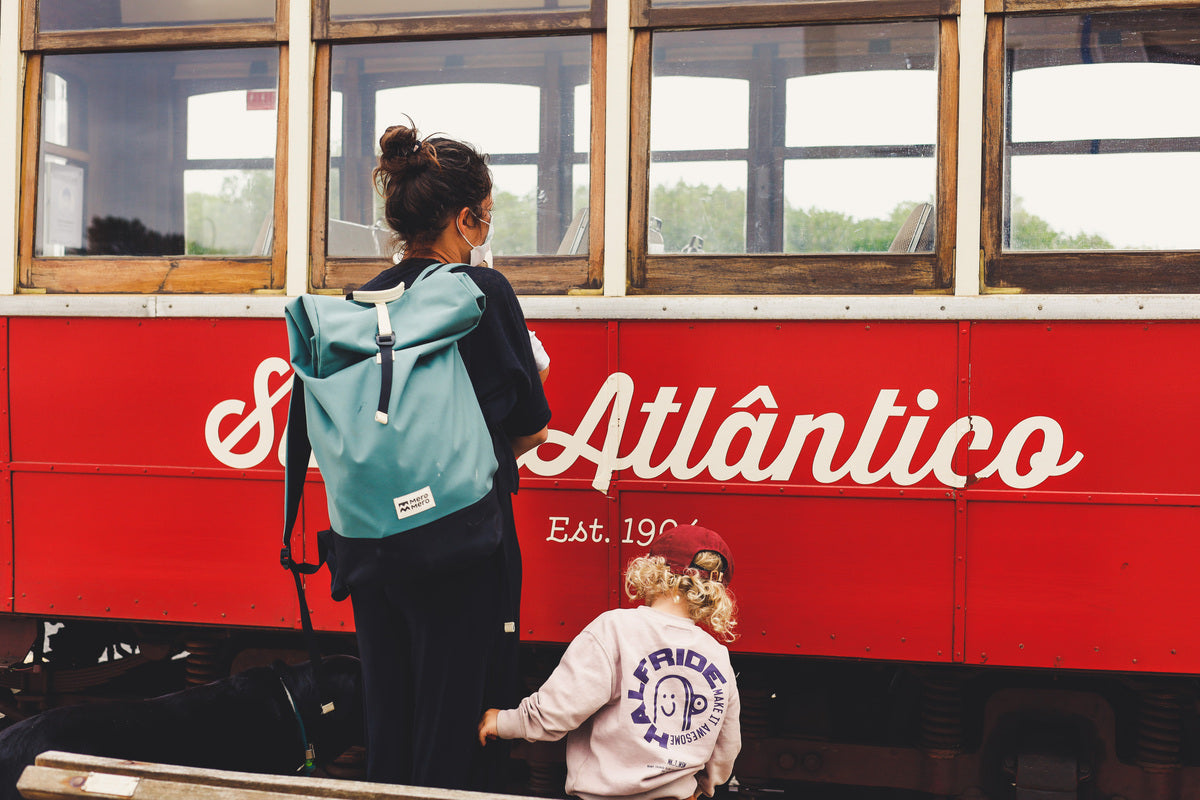
{"type": "MultiPolygon", "coordinates": [[[[452,524],[497,525],[488,558],[426,575],[390,552],[392,539],[335,537],[335,582],[348,587],[362,660],[367,777],[456,789],[502,789],[506,753],[475,741],[482,709],[520,697],[521,553],[512,518],[516,458],[545,441],[550,407],[512,287],[492,269],[492,175],[486,156],[443,136],[394,125],[374,170],[402,259],[362,289],[412,285],[427,266],[467,275],[486,296],[460,339],[499,463],[494,503],[452,524]],[[491,748],[488,748],[491,750],[491,748]]],[[[437,414],[437,409],[430,409],[437,414]]],[[[473,506],[474,509],[474,506],[473,506]]]]}

